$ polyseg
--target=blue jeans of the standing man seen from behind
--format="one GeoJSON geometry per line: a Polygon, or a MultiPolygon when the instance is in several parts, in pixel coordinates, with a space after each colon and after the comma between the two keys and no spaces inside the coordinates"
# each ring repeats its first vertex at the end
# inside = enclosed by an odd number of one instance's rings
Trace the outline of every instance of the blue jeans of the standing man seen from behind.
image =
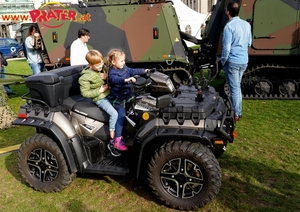
{"type": "Polygon", "coordinates": [[[242,91],[241,81],[247,64],[226,62],[224,65],[225,77],[229,85],[230,99],[236,116],[242,115],[242,91]]]}

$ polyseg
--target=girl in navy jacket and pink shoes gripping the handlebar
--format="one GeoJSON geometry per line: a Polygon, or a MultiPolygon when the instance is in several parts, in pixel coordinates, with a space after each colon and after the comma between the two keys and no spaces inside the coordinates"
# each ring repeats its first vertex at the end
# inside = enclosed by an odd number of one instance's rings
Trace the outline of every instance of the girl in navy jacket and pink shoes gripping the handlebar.
{"type": "Polygon", "coordinates": [[[125,65],[125,53],[120,49],[112,49],[107,55],[107,67],[109,85],[111,87],[108,99],[118,111],[118,120],[116,123],[116,139],[110,144],[120,151],[127,151],[124,138],[122,137],[122,130],[125,121],[125,106],[126,103],[134,98],[131,92],[132,85],[135,83],[135,75],[142,75],[148,72],[148,69],[133,69],[125,65]],[[113,143],[114,142],[114,143],[113,143]]]}

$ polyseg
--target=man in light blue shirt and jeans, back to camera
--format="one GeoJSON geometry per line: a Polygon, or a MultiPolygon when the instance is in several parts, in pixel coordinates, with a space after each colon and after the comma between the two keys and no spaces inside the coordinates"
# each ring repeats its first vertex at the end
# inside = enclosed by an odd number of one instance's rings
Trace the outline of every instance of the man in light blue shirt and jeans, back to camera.
{"type": "Polygon", "coordinates": [[[241,80],[248,65],[248,47],[252,43],[251,26],[239,18],[239,9],[239,4],[234,1],[227,5],[225,13],[229,21],[224,27],[221,55],[235,121],[242,116],[241,80]]]}

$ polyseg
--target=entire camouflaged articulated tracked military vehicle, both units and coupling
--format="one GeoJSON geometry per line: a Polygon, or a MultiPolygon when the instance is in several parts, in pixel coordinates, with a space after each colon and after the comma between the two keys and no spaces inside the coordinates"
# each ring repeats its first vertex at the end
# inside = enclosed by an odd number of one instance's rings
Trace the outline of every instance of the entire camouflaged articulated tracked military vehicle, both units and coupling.
{"type": "MultiPolygon", "coordinates": [[[[106,0],[79,4],[46,3],[30,11],[41,32],[47,69],[70,64],[70,45],[77,31],[91,31],[89,48],[104,55],[122,48],[133,67],[163,67],[175,84],[187,84],[191,75],[209,64],[215,75],[222,66],[222,29],[230,0],[219,0],[207,23],[207,38],[198,40],[180,31],[172,1],[106,0]],[[185,41],[200,48],[190,49],[185,41]]],[[[242,80],[244,98],[299,99],[299,2],[294,0],[237,0],[239,16],[251,24],[253,43],[242,80]],[[265,11],[268,11],[267,13],[265,11]]],[[[23,25],[26,30],[28,25],[23,25]]],[[[24,33],[23,33],[24,34],[24,33]]],[[[229,95],[224,84],[225,94],[229,95]]]]}

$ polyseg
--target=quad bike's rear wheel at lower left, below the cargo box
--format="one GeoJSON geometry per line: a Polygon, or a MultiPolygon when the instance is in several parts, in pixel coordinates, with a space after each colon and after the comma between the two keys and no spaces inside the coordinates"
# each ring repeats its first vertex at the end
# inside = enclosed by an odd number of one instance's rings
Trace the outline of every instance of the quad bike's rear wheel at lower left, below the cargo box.
{"type": "Polygon", "coordinates": [[[34,134],[22,143],[18,166],[25,181],[43,192],[60,191],[76,177],[75,173],[69,173],[58,145],[43,134],[34,134]]]}

